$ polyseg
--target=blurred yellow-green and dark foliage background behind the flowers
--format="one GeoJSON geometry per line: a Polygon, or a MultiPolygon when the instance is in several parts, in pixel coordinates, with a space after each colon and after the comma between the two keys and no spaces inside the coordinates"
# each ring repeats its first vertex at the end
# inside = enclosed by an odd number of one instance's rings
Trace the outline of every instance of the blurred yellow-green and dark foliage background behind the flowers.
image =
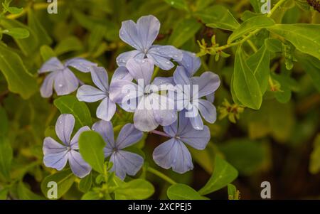
{"type": "MultiPolygon", "coordinates": [[[[311,9],[306,1],[289,1],[272,17],[277,23],[320,23],[319,12],[311,9]]],[[[272,5],[275,2],[272,1],[272,5]]],[[[38,68],[50,55],[56,55],[60,60],[76,56],[87,58],[104,66],[112,75],[117,68],[117,55],[131,50],[118,36],[124,20],[137,21],[140,16],[153,14],[161,21],[156,43],[198,53],[197,41],[204,39],[210,43],[215,35],[216,42],[223,45],[230,35],[230,31],[206,26],[215,15],[210,14],[212,6],[225,6],[238,21],[245,11],[259,13],[260,9],[255,0],[58,0],[58,14],[48,14],[46,1],[14,0],[11,5],[23,8],[23,11],[2,14],[1,29],[26,28],[30,36],[20,40],[2,34],[1,43],[8,48],[0,48],[0,54],[9,56],[9,63],[16,69],[25,69],[37,78],[36,82],[21,83],[21,91],[16,90],[15,85],[8,85],[5,75],[0,73],[0,136],[6,136],[1,139],[9,142],[0,144],[3,147],[0,159],[5,157],[0,162],[11,163],[10,167],[0,164],[1,199],[28,198],[28,194],[21,191],[26,188],[41,196],[40,183],[53,171],[43,166],[42,144],[43,138],[53,132],[59,112],[53,105],[56,95],[50,99],[40,96],[38,88],[43,76],[37,75],[38,68]]],[[[252,39],[255,45],[263,43],[260,38],[263,33],[266,32],[262,31],[252,39]]],[[[245,49],[251,51],[247,44],[245,49]]],[[[215,94],[220,119],[215,124],[207,124],[212,135],[207,148],[203,151],[191,149],[195,163],[193,171],[180,175],[157,167],[151,154],[166,139],[155,135],[148,135],[141,142],[146,161],[178,183],[199,189],[213,172],[214,157],[220,155],[239,171],[233,184],[240,191],[241,199],[259,199],[262,181],[270,181],[273,199],[319,199],[319,60],[314,58],[314,66],[310,68],[310,63],[304,66],[300,63],[303,57],[297,57],[292,60],[294,68],[287,70],[286,55],[272,58],[270,66],[277,75],[274,79],[282,85],[282,91],[268,90],[261,108],[252,110],[233,104],[230,82],[235,49],[229,48],[225,52],[230,57],[218,61],[215,61],[215,55],[201,57],[198,74],[211,70],[222,80],[215,94]],[[308,70],[313,70],[313,75],[308,70]]],[[[0,63],[3,62],[0,60],[0,63]]],[[[91,81],[90,75],[77,71],[75,74],[82,82],[91,81]]],[[[160,71],[159,75],[169,76],[171,73],[160,71]]],[[[88,107],[95,115],[97,104],[88,104],[88,107]]],[[[120,124],[117,118],[114,123],[120,124]]],[[[169,184],[152,174],[147,174],[146,178],[156,188],[152,198],[167,197],[169,184]]],[[[77,183],[74,183],[63,198],[77,199],[80,196],[77,183]]],[[[228,193],[223,188],[208,197],[228,199],[228,193]]]]}

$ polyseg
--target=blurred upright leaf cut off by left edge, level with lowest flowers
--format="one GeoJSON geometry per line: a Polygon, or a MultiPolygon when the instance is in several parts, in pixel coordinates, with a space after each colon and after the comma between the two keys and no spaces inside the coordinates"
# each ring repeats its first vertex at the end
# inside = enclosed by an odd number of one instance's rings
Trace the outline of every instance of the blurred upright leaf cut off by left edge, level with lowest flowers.
{"type": "Polygon", "coordinates": [[[10,169],[13,156],[14,152],[9,140],[6,137],[0,136],[0,173],[8,181],[10,181],[10,169]]]}

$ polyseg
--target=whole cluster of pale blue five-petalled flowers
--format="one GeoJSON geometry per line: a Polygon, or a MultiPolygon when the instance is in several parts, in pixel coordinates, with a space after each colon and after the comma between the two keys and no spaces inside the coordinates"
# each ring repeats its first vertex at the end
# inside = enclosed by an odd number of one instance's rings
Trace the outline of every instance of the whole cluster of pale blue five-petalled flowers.
{"type": "MultiPolygon", "coordinates": [[[[78,100],[100,102],[96,116],[101,120],[93,124],[92,130],[101,134],[107,143],[105,157],[110,157],[113,163],[111,171],[115,171],[122,179],[126,175],[134,176],[142,167],[143,157],[124,149],[142,139],[143,132],[160,133],[169,138],[154,149],[156,164],[172,168],[178,173],[191,170],[193,163],[186,144],[195,149],[205,149],[210,140],[210,131],[203,124],[203,119],[209,123],[216,119],[213,101],[214,92],[220,85],[218,75],[207,71],[200,76],[193,76],[201,66],[195,54],[174,46],[153,45],[159,29],[160,22],[154,16],[142,16],[137,23],[131,20],[122,22],[119,37],[135,50],[117,57],[119,68],[114,71],[110,83],[105,68],[81,58],[68,60],[65,65],[57,58],[51,58],[39,70],[39,73],[51,72],[41,87],[43,97],[50,97],[53,88],[57,95],[68,95],[78,89],[78,100]],[[176,69],[172,77],[154,77],[154,66],[161,70],[171,70],[175,66],[176,69]],[[90,73],[95,86],[84,85],[69,67],[90,73]],[[144,84],[140,85],[140,81],[144,84]],[[78,88],[78,85],[81,86],[78,88]],[[123,90],[128,85],[133,88],[130,92],[123,90]],[[186,91],[181,87],[183,99],[186,98],[187,102],[180,108],[171,109],[166,105],[171,102],[175,104],[178,99],[169,97],[169,90],[163,92],[150,85],[188,85],[191,90],[186,91]],[[136,108],[129,109],[124,105],[124,100],[134,103],[136,108]],[[114,141],[110,120],[117,108],[132,112],[134,116],[133,124],[124,125],[114,141]],[[159,125],[164,132],[155,130],[159,125]]],[[[63,144],[50,137],[44,140],[44,164],[61,170],[69,161],[73,173],[82,178],[90,173],[91,168],[78,152],[78,138],[81,132],[90,128],[82,127],[70,140],[74,124],[73,115],[60,115],[55,132],[63,144]]]]}

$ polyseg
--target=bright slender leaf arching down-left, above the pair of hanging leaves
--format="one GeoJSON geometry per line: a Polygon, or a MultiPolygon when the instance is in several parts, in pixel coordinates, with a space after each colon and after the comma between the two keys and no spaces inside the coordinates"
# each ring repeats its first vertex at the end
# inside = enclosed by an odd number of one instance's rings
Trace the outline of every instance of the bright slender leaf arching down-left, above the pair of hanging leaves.
{"type": "Polygon", "coordinates": [[[274,21],[272,18],[267,16],[253,16],[248,18],[246,21],[241,23],[241,25],[233,31],[233,33],[228,38],[228,43],[232,43],[238,38],[245,36],[245,34],[250,33],[256,29],[265,28],[268,26],[273,26],[274,21]]]}

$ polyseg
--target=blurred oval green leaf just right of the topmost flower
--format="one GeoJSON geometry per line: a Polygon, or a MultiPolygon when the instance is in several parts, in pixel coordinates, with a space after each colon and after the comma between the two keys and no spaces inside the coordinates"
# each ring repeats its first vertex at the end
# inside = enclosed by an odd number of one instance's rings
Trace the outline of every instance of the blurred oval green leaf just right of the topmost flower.
{"type": "Polygon", "coordinates": [[[196,19],[183,19],[183,21],[178,23],[176,28],[174,28],[169,38],[169,44],[180,48],[186,41],[192,38],[200,28],[201,23],[198,23],[196,19]]]}

